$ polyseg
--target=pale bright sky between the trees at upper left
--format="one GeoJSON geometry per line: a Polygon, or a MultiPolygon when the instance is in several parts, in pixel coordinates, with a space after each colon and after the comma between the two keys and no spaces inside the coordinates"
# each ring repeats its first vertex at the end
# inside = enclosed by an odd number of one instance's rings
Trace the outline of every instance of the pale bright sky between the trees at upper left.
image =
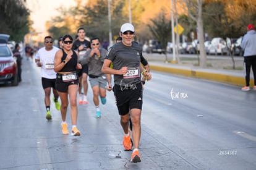
{"type": "Polygon", "coordinates": [[[30,9],[30,18],[33,20],[32,27],[36,32],[45,32],[45,22],[59,15],[56,8],[75,6],[74,0],[27,0],[27,8],[30,9]]]}

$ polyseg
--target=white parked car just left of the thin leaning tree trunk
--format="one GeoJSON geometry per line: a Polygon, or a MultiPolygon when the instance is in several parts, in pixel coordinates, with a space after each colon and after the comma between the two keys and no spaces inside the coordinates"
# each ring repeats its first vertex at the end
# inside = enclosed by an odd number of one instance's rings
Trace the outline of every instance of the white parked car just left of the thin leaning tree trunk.
{"type": "MultiPolygon", "coordinates": [[[[231,41],[228,38],[228,43],[231,46],[231,41]],[[229,42],[230,41],[230,42],[229,42]]],[[[209,54],[229,54],[228,48],[226,46],[226,41],[223,38],[213,38],[213,40],[211,40],[211,44],[208,46],[208,53],[209,54]]]]}

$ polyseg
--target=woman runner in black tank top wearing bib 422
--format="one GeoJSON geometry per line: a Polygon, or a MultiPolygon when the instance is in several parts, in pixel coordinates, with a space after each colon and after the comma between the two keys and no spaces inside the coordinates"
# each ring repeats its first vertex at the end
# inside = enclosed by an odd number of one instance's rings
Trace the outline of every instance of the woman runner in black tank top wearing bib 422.
{"type": "Polygon", "coordinates": [[[56,89],[61,98],[62,134],[69,134],[67,129],[66,114],[67,106],[70,103],[70,114],[72,122],[72,135],[79,136],[77,129],[77,89],[79,88],[78,77],[75,69],[81,69],[78,63],[77,51],[72,51],[73,38],[64,35],[62,38],[63,49],[59,49],[55,54],[54,70],[57,73],[56,89]]]}

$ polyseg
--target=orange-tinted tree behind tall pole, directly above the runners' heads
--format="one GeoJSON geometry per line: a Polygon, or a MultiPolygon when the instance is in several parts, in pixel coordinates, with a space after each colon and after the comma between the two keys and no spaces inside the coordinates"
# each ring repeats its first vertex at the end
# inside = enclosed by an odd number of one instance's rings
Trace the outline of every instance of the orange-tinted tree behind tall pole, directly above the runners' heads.
{"type": "MultiPolygon", "coordinates": [[[[121,10],[124,6],[124,1],[116,0],[111,2],[111,31],[113,35],[117,36],[120,25],[124,20],[121,10]]],[[[94,3],[88,1],[87,4],[87,6],[77,9],[78,15],[81,18],[80,27],[85,28],[87,35],[90,37],[97,36],[101,41],[108,39],[108,1],[98,0],[94,1],[94,3]]]]}

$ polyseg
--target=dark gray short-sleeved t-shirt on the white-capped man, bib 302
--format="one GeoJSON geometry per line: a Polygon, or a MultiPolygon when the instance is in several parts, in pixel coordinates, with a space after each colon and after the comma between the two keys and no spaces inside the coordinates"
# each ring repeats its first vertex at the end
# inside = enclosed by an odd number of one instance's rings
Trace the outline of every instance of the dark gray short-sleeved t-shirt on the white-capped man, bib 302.
{"type": "Polygon", "coordinates": [[[113,69],[119,70],[122,67],[128,67],[126,75],[114,75],[114,84],[129,86],[140,83],[140,55],[142,48],[137,43],[132,46],[125,46],[116,43],[109,49],[106,59],[113,62],[113,69]]]}

